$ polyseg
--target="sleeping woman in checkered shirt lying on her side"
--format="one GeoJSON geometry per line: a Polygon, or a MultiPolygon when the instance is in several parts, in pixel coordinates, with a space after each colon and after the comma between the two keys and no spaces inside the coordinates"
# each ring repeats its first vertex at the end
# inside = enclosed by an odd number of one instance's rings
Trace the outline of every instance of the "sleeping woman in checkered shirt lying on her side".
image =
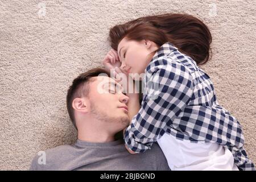
{"type": "Polygon", "coordinates": [[[121,65],[117,74],[145,74],[141,108],[137,94],[129,94],[128,151],[144,152],[157,141],[172,170],[255,169],[243,148],[240,123],[218,104],[212,81],[198,67],[209,60],[212,41],[201,20],[146,16],[114,26],[109,35],[113,49],[105,67],[121,65]]]}

